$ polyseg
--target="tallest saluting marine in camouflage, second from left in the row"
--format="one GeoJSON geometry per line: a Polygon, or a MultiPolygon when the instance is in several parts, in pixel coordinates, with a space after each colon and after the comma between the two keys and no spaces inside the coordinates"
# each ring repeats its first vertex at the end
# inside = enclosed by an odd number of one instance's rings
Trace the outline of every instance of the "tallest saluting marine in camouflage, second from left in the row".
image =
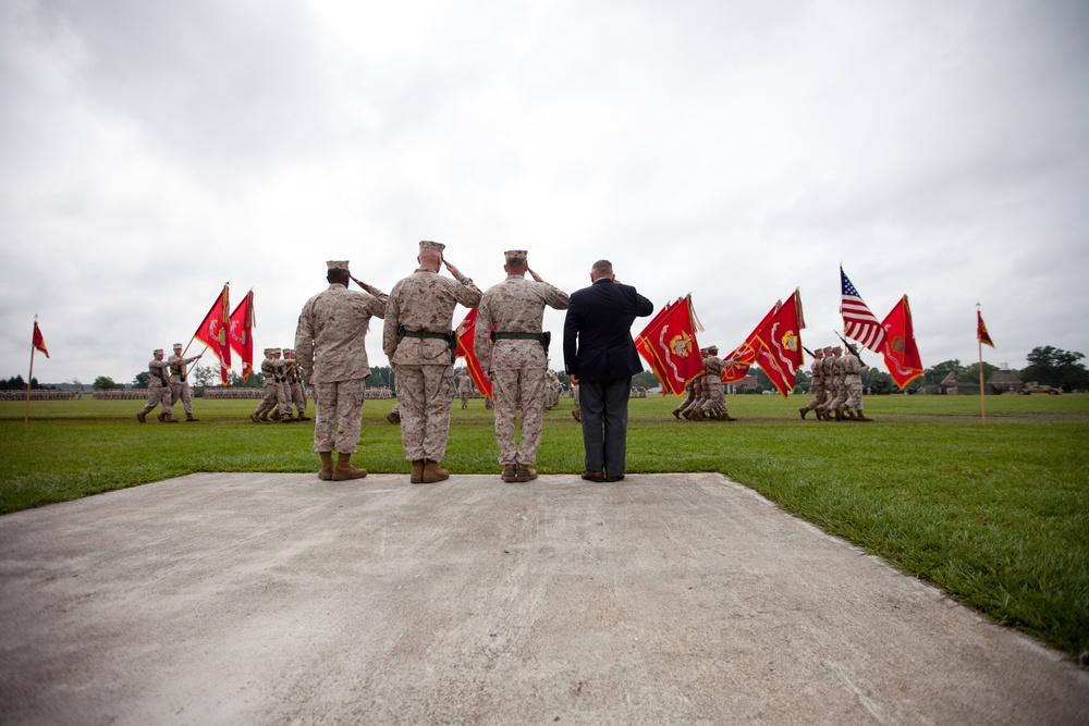
{"type": "Polygon", "coordinates": [[[450,476],[439,462],[446,452],[454,399],[454,307],[480,304],[480,290],[442,259],[444,248],[419,243],[419,268],[390,291],[382,331],[382,349],[396,373],[401,444],[416,484],[450,476]],[[438,274],[443,263],[453,280],[438,274]]]}

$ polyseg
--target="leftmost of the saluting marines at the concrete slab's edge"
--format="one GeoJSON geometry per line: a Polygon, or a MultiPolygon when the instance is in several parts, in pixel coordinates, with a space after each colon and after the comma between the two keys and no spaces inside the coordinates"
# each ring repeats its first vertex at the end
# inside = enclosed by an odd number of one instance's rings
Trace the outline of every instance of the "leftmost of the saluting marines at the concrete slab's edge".
{"type": "Polygon", "coordinates": [[[318,478],[345,481],[367,476],[366,469],[352,465],[352,454],[359,446],[364,380],[370,374],[367,331],[372,317],[386,316],[389,296],[358,280],[364,292],[348,290],[348,281],[355,279],[347,260],[330,260],[326,268],[329,287],[308,299],[298,315],[295,356],[315,390],[318,478]]]}

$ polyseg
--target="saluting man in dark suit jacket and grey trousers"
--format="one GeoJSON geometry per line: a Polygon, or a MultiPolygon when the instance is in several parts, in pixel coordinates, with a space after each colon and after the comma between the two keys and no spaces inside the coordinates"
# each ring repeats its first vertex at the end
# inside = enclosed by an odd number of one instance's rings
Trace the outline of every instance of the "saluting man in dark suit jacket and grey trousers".
{"type": "Polygon", "coordinates": [[[617,282],[609,260],[594,263],[590,282],[571,295],[563,362],[578,385],[586,450],[583,479],[617,481],[624,478],[632,377],[643,370],[632,323],[653,312],[654,306],[635,287],[617,282]]]}

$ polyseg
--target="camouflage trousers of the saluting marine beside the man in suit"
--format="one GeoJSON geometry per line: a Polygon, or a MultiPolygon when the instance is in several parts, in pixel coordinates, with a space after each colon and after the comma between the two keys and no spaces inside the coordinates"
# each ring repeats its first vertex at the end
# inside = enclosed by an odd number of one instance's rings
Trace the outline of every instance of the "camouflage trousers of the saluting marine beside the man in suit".
{"type": "Polygon", "coordinates": [[[504,368],[493,370],[491,394],[495,399],[495,443],[499,463],[537,463],[544,426],[544,369],[504,368]],[[522,441],[514,442],[514,419],[522,409],[522,441]]]}

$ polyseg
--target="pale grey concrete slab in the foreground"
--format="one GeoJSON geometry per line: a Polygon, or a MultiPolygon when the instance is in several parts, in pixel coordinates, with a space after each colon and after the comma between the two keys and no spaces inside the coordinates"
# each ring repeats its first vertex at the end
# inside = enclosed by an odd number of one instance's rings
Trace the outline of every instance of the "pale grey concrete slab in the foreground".
{"type": "Polygon", "coordinates": [[[4,724],[1085,724],[1089,673],[718,475],[203,473],[0,517],[4,724]]]}

